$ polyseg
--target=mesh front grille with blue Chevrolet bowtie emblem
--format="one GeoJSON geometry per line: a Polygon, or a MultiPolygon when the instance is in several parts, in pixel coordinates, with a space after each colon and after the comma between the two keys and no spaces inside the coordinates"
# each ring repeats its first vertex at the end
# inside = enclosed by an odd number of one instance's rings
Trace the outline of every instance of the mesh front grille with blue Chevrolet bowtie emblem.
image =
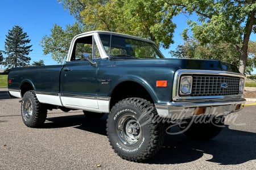
{"type": "Polygon", "coordinates": [[[191,96],[238,95],[239,82],[232,76],[193,75],[191,96]]]}

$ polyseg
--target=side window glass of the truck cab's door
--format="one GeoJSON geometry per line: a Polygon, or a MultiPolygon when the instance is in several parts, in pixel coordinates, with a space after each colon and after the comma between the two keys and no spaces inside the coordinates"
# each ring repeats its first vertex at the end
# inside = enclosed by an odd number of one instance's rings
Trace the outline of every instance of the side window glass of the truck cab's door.
{"type": "Polygon", "coordinates": [[[100,52],[96,42],[93,40],[93,36],[82,37],[76,40],[71,61],[84,60],[84,55],[88,56],[89,59],[100,57],[100,52]]]}

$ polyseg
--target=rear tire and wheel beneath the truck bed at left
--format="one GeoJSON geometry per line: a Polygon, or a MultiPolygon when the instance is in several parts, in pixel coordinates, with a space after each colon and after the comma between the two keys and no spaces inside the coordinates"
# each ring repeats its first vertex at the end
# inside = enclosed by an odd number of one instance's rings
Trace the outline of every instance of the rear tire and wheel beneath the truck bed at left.
{"type": "Polygon", "coordinates": [[[27,91],[22,98],[21,115],[24,124],[30,128],[39,128],[46,121],[47,109],[32,90],[27,91]]]}

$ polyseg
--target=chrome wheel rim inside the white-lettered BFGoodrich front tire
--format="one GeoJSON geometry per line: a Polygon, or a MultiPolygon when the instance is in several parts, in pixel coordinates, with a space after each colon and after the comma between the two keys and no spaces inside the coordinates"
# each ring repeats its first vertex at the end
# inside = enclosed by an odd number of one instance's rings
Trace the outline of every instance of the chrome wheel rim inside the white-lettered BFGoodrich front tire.
{"type": "Polygon", "coordinates": [[[117,133],[123,144],[132,146],[141,139],[141,125],[134,116],[124,115],[119,118],[117,133]]]}

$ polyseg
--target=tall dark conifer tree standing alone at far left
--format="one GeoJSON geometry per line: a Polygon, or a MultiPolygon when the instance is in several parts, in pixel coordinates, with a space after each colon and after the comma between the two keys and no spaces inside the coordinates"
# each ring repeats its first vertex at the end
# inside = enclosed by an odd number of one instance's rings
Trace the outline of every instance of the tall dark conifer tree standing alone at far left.
{"type": "Polygon", "coordinates": [[[12,67],[26,66],[30,62],[28,54],[32,51],[31,46],[27,45],[30,43],[28,35],[23,32],[22,27],[15,25],[11,30],[8,31],[5,41],[5,62],[3,65],[7,66],[8,69],[12,67]]]}

